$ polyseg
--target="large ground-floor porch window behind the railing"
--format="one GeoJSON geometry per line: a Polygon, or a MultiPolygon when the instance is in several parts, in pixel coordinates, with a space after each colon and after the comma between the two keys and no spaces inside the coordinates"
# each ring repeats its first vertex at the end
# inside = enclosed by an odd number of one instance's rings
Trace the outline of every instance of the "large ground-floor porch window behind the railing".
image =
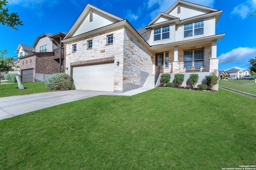
{"type": "Polygon", "coordinates": [[[184,51],[184,67],[190,70],[192,66],[196,69],[204,66],[204,49],[184,51]]]}

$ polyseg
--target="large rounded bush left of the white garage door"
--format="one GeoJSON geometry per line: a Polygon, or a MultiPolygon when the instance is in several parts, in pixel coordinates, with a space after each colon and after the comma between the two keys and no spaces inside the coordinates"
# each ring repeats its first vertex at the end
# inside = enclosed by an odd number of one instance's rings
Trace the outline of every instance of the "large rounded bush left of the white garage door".
{"type": "Polygon", "coordinates": [[[56,73],[48,76],[44,80],[44,84],[47,88],[52,90],[72,90],[75,88],[68,74],[56,73]]]}

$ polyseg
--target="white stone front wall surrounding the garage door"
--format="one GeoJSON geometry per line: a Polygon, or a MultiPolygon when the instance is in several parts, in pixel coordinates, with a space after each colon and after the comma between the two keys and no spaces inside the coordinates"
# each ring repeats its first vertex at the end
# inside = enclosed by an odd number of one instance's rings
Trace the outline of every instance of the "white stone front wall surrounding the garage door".
{"type": "MultiPolygon", "coordinates": [[[[118,27],[100,34],[78,39],[66,44],[66,70],[71,74],[70,66],[97,64],[102,62],[114,63],[114,91],[122,91],[122,61],[124,55],[124,27],[118,27]],[[107,45],[107,35],[113,34],[113,43],[107,45]],[[92,48],[87,49],[87,43],[92,40],[92,48]],[[76,44],[76,52],[72,45],[76,44]],[[119,62],[119,66],[116,63],[119,62]]],[[[71,75],[70,75],[71,76],[71,75]]]]}

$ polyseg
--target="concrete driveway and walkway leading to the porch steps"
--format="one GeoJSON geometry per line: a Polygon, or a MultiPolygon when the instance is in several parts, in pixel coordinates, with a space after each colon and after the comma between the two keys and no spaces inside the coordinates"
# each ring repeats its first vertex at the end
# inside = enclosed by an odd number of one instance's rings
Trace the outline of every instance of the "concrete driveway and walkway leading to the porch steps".
{"type": "Polygon", "coordinates": [[[44,109],[76,100],[90,98],[99,95],[132,96],[152,88],[138,88],[124,93],[100,92],[88,90],[67,90],[27,94],[22,96],[10,96],[0,98],[0,120],[21,115],[31,111],[44,109]]]}

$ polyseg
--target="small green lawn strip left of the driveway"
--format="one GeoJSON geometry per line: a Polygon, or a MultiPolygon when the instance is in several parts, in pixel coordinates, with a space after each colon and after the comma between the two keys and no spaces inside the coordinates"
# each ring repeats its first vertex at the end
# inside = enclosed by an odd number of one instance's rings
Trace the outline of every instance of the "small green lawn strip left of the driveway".
{"type": "Polygon", "coordinates": [[[22,83],[22,85],[25,88],[24,90],[20,90],[18,88],[18,83],[0,85],[0,98],[6,96],[17,96],[51,91],[45,87],[44,82],[28,82],[22,83]]]}

